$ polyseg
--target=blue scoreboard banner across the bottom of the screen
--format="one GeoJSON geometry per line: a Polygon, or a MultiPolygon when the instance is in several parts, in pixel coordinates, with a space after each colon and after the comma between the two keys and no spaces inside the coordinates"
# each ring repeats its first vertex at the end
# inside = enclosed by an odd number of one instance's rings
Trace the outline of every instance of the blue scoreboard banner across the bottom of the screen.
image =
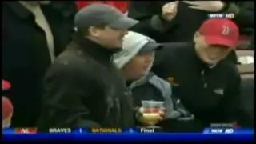
{"type": "Polygon", "coordinates": [[[2,130],[4,141],[253,141],[252,129],[207,128],[202,133],[162,133],[158,128],[51,128],[49,133],[40,133],[36,128],[2,130]]]}

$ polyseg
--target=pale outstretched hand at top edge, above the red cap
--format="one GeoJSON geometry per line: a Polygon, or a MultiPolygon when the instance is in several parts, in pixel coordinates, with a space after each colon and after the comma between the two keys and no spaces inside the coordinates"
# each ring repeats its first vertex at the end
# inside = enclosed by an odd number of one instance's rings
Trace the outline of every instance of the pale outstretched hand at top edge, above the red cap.
{"type": "Polygon", "coordinates": [[[222,1],[182,1],[190,5],[191,9],[206,10],[208,12],[218,12],[224,7],[222,1]]]}

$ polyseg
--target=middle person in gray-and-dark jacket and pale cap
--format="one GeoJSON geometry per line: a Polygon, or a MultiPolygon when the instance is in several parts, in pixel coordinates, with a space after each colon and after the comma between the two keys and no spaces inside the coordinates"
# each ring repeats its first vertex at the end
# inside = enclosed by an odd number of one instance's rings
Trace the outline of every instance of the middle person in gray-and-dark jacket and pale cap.
{"type": "MultiPolygon", "coordinates": [[[[154,50],[161,49],[161,44],[145,35],[129,31],[124,37],[122,51],[114,54],[114,62],[118,69],[122,71],[126,84],[132,92],[134,108],[142,112],[143,100],[154,100],[164,102],[164,114],[159,118],[178,119],[179,121],[189,121],[194,119],[179,102],[178,98],[171,97],[170,83],[150,72],[154,62],[154,50]]],[[[146,122],[139,117],[138,125],[155,126],[158,122],[146,122]]]]}

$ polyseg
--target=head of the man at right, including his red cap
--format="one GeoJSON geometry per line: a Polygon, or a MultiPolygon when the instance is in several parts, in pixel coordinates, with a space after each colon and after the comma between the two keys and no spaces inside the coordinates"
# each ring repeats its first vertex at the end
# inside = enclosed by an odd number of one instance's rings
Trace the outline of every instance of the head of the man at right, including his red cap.
{"type": "Polygon", "coordinates": [[[199,49],[197,51],[206,51],[199,53],[198,56],[209,64],[215,64],[226,58],[230,50],[234,50],[238,38],[238,26],[226,18],[220,18],[204,22],[194,35],[194,42],[199,45],[195,46],[199,49]]]}

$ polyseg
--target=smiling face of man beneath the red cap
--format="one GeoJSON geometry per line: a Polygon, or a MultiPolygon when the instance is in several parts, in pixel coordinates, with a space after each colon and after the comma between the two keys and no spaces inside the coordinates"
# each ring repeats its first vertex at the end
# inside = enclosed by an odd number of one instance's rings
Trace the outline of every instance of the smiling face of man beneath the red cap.
{"type": "Polygon", "coordinates": [[[226,58],[230,52],[230,48],[227,46],[208,45],[205,42],[204,36],[200,34],[195,34],[194,42],[199,58],[209,65],[218,63],[223,58],[226,58]]]}

